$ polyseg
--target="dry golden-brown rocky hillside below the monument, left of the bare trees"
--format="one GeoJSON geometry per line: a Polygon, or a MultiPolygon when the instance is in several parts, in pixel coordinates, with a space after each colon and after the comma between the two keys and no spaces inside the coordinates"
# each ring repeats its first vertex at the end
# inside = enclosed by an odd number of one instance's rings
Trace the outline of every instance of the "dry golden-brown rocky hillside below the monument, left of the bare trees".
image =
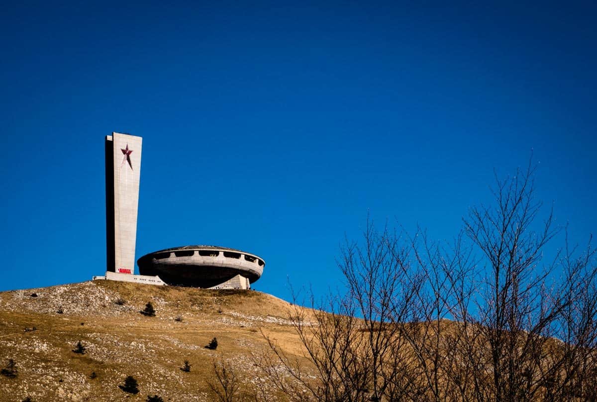
{"type": "Polygon", "coordinates": [[[248,390],[261,381],[251,357],[267,348],[261,331],[287,352],[300,350],[289,307],[252,290],[112,281],[2,292],[0,368],[13,359],[18,375],[0,376],[0,400],[144,401],[157,394],[211,401],[214,360],[229,363],[248,390]],[[147,302],[155,317],[140,314],[147,302]],[[204,348],[213,337],[217,350],[204,348]],[[72,351],[79,340],[85,354],[72,351]],[[184,360],[192,365],[188,373],[180,370],[184,360]],[[138,380],[139,394],[119,388],[128,375],[138,380]]]}

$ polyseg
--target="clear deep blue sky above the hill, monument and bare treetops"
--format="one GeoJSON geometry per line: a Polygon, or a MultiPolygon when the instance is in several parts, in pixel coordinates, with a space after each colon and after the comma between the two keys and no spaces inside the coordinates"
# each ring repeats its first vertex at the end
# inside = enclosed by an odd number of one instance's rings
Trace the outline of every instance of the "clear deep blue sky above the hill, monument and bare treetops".
{"type": "Polygon", "coordinates": [[[137,257],[247,250],[284,298],[336,286],[367,211],[453,237],[531,149],[597,228],[594,3],[123,3],[3,5],[0,290],[103,274],[112,131],[143,137],[137,257]]]}

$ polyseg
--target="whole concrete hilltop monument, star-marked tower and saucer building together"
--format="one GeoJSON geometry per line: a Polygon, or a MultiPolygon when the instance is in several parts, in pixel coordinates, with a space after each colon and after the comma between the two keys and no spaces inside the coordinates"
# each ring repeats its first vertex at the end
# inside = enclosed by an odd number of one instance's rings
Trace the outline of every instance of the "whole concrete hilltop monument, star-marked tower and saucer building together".
{"type": "Polygon", "coordinates": [[[135,275],[141,137],[106,136],[106,275],[97,279],[211,289],[250,289],[265,262],[226,247],[184,246],[146,254],[135,275]],[[158,276],[159,275],[159,276],[158,276]],[[164,280],[161,279],[164,278],[164,280]]]}

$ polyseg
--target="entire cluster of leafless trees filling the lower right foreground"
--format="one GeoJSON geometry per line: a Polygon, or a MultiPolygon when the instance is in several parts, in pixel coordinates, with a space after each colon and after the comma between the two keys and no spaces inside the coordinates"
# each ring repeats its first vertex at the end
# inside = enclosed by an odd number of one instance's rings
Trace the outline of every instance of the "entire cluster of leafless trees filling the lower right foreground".
{"type": "Polygon", "coordinates": [[[341,248],[346,294],[294,300],[304,354],[266,336],[267,378],[297,402],[597,400],[595,248],[549,248],[562,228],[534,172],[496,175],[452,243],[367,219],[341,248]]]}

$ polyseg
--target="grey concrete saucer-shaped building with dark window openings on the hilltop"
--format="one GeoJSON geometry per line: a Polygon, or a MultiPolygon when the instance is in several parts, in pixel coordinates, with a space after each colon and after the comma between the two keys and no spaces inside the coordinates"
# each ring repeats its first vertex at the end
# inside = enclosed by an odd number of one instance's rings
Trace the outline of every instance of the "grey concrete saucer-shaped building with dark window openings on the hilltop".
{"type": "Polygon", "coordinates": [[[261,277],[265,262],[255,254],[233,248],[183,246],[146,254],[137,260],[137,265],[141,275],[158,275],[169,285],[226,287],[227,281],[240,275],[248,288],[261,277]]]}

